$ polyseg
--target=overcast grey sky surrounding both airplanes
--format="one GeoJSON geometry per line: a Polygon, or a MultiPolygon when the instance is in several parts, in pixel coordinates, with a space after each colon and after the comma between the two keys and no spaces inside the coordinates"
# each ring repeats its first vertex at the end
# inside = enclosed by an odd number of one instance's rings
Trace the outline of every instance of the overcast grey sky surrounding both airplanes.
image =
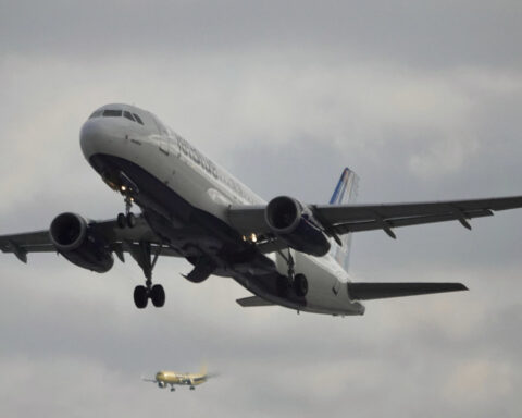
{"type": "MultiPolygon", "coordinates": [[[[522,194],[519,1],[0,0],[0,233],[123,208],[84,160],[108,102],[151,110],[266,199],[522,194]]],[[[0,255],[0,415],[520,417],[522,210],[355,236],[361,281],[470,292],[369,302],[333,318],[244,309],[232,280],[161,259],[138,311],[132,259],[99,275],[0,255]],[[195,392],[140,381],[221,373],[195,392]]]]}

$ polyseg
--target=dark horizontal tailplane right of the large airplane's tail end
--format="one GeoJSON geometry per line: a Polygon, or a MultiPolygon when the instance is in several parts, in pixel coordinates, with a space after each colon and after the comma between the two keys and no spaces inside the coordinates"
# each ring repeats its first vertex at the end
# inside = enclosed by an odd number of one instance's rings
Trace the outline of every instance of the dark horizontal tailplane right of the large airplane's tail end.
{"type": "Polygon", "coordinates": [[[462,283],[348,283],[348,294],[355,300],[427,295],[431,293],[468,291],[462,283]]]}

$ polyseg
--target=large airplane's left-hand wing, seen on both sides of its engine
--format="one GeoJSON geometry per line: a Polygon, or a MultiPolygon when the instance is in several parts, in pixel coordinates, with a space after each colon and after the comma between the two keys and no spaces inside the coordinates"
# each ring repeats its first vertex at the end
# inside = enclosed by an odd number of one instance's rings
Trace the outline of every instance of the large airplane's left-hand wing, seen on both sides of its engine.
{"type": "MultiPolygon", "coordinates": [[[[115,219],[90,221],[88,226],[108,248],[119,256],[123,253],[132,253],[139,247],[140,242],[146,242],[151,245],[152,254],[156,254],[161,246],[162,256],[183,257],[174,248],[162,245],[161,238],[152,232],[141,217],[137,218],[136,226],[132,229],[121,229],[115,219]]],[[[23,262],[27,262],[28,253],[57,253],[49,236],[49,230],[0,235],[0,250],[13,253],[23,262]]]]}

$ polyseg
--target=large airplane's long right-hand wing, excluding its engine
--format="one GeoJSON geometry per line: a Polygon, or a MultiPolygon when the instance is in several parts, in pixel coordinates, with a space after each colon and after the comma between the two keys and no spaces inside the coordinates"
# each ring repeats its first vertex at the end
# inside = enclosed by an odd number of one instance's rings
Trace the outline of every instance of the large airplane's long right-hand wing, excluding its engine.
{"type": "MultiPolygon", "coordinates": [[[[343,235],[349,232],[384,230],[396,238],[394,228],[423,223],[459,221],[471,230],[468,220],[490,217],[494,211],[522,208],[522,196],[427,201],[391,205],[309,205],[324,232],[343,235]]],[[[244,234],[271,235],[264,219],[265,206],[232,206],[231,223],[244,234]]]]}

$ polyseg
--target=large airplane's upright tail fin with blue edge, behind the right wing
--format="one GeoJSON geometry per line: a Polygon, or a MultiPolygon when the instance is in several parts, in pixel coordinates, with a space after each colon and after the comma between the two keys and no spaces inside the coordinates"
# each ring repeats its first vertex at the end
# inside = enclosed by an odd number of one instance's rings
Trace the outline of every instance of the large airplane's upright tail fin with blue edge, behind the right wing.
{"type": "MultiPolygon", "coordinates": [[[[330,205],[353,204],[357,198],[358,187],[359,177],[353,171],[346,168],[340,174],[337,186],[335,186],[334,194],[330,199],[330,205]]],[[[339,246],[335,242],[332,243],[330,255],[335,258],[339,266],[341,266],[346,271],[348,271],[351,234],[344,235],[340,241],[343,242],[343,246],[339,246]]]]}

